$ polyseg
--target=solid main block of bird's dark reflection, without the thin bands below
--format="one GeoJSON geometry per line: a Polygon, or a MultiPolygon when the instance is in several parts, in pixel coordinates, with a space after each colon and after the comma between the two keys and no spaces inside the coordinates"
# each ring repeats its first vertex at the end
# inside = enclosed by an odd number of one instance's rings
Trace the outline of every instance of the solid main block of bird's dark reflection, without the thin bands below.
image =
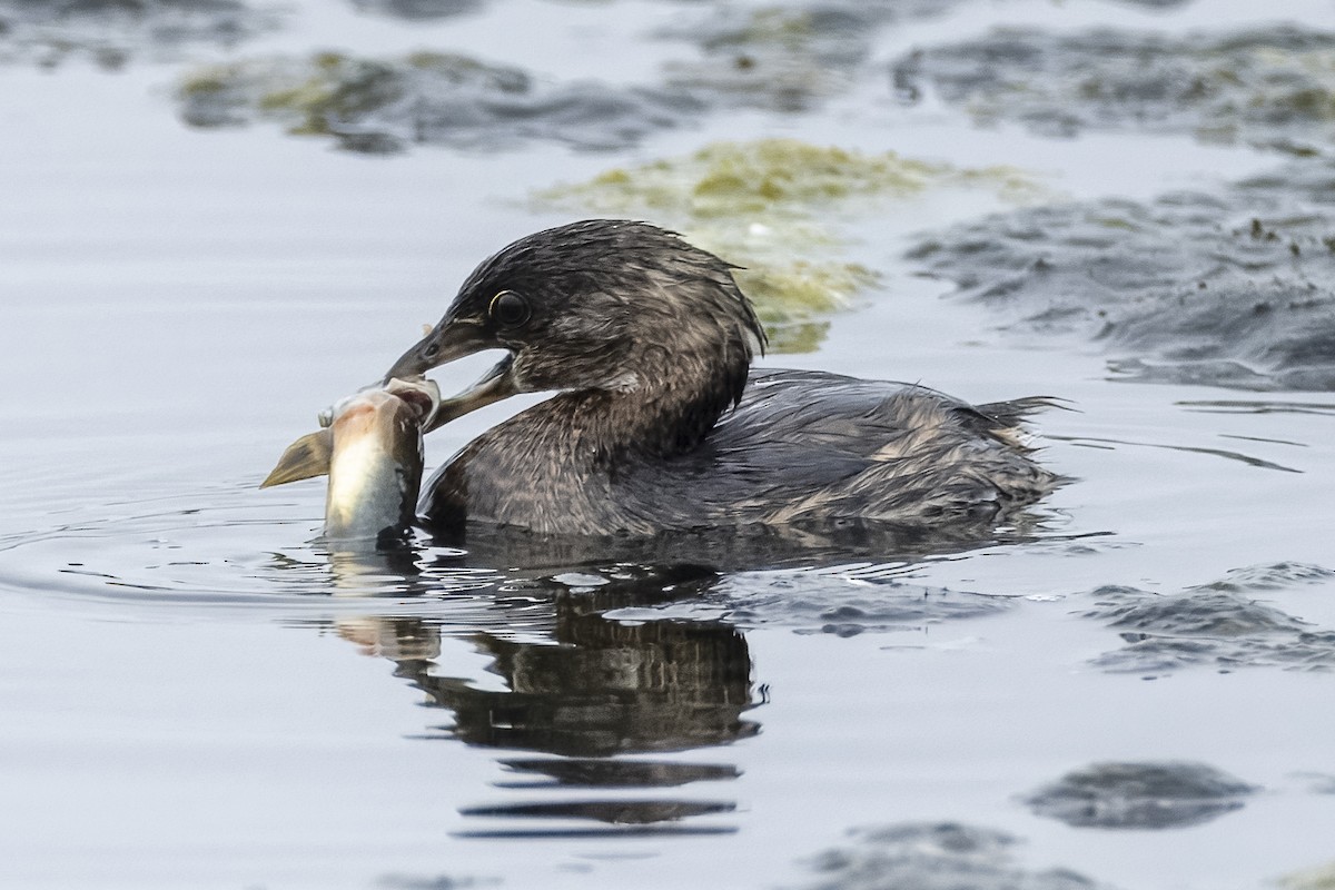
{"type": "Polygon", "coordinates": [[[749,738],[758,726],[742,718],[754,702],[741,631],[705,620],[629,624],[603,614],[696,596],[709,583],[696,575],[647,572],[591,592],[557,592],[557,646],[475,634],[473,643],[491,656],[487,671],[505,690],[435,675],[411,658],[398,662],[398,674],[433,705],[453,710],[451,735],[470,745],[601,758],[749,738]]]}

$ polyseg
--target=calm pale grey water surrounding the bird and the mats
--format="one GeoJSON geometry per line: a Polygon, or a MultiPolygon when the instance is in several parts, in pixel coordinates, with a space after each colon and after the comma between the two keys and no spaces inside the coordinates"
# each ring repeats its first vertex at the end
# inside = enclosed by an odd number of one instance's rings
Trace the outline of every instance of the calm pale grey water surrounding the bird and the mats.
{"type": "MultiPolygon", "coordinates": [[[[961,4],[876,32],[801,115],[720,100],[613,153],[187,129],[172,85],[231,57],[207,41],[116,72],[0,68],[0,883],[1088,886],[1067,869],[1215,890],[1328,869],[1335,396],[1128,380],[1099,342],[941,299],[904,254],[1009,212],[993,191],[842,216],[884,292],[768,362],[1069,399],[1044,459],[1077,482],[1036,540],[511,571],[426,544],[330,555],[319,483],[255,486],[479,259],[569,219],[534,189],[785,135],[1016,164],[1077,199],[1223,191],[1283,159],[977,129],[896,104],[884,63],[1012,15],[1180,33],[1330,12],[961,4]],[[1095,818],[1035,803],[1091,771],[1113,777],[1095,818]]],[[[469,48],[651,84],[693,52],[653,35],[693,15],[533,0],[410,25],[312,4],[236,52],[469,48]]],[[[433,434],[429,463],[514,410],[433,434]]]]}

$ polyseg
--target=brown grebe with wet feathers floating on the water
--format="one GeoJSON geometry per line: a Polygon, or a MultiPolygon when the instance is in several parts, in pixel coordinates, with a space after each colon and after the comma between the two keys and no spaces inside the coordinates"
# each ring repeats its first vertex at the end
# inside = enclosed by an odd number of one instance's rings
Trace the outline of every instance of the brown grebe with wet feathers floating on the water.
{"type": "Polygon", "coordinates": [[[1045,399],[973,407],[918,386],[752,371],[764,331],[730,268],[622,220],[538,232],[482,263],[388,376],[502,348],[478,402],[558,394],[442,467],[427,524],[991,524],[1057,483],[1019,428],[1045,399]]]}

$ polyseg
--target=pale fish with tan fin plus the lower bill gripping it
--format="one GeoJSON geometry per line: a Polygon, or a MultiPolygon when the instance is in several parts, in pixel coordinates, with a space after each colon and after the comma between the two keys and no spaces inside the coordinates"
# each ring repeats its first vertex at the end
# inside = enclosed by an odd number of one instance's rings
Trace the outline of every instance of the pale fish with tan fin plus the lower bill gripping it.
{"type": "Polygon", "coordinates": [[[511,395],[491,372],[455,399],[441,399],[425,378],[391,379],[335,404],[322,430],[283,452],[262,488],[328,474],[324,536],[386,543],[413,526],[422,484],[422,436],[511,395]]]}

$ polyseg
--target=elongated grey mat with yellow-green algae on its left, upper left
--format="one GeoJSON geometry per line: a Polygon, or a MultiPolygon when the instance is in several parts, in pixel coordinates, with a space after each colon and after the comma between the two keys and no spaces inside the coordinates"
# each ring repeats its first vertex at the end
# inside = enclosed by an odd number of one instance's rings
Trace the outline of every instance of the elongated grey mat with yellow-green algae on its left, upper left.
{"type": "Polygon", "coordinates": [[[609,149],[700,113],[698,101],[641,87],[538,83],[527,72],[445,52],[356,57],[239,59],[188,75],[180,115],[202,128],[256,120],[340,148],[403,151],[417,144],[509,147],[534,139],[609,149]]]}

